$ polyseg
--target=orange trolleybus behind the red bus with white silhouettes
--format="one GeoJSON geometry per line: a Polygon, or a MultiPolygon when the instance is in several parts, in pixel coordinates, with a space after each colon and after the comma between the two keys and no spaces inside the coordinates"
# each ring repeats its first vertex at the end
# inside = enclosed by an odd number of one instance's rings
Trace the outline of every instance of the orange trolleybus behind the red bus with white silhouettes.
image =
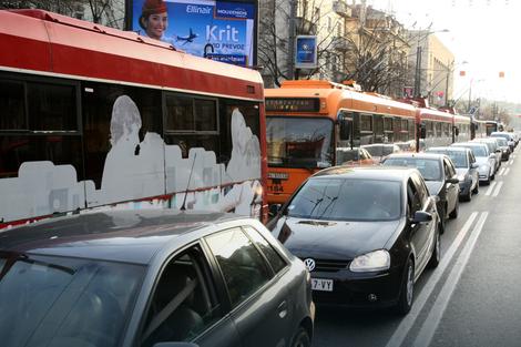
{"type": "Polygon", "coordinates": [[[328,81],[265,90],[268,203],[282,204],[344,149],[413,141],[415,106],[328,81]]]}

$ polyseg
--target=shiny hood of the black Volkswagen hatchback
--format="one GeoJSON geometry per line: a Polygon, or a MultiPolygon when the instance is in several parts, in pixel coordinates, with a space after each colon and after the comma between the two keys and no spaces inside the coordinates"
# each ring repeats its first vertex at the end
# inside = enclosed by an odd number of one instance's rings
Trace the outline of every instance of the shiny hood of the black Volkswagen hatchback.
{"type": "Polygon", "coordinates": [[[298,257],[353,259],[387,248],[405,218],[385,222],[317,221],[282,216],[272,233],[298,257]]]}

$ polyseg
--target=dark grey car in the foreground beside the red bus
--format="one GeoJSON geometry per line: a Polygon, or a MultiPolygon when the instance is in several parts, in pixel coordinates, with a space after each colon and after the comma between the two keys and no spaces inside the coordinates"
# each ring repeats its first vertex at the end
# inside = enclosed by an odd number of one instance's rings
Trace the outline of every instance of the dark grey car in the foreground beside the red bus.
{"type": "Polygon", "coordinates": [[[314,324],[309,273],[259,222],[172,211],[0,233],[0,312],[2,347],[310,346],[314,324]]]}

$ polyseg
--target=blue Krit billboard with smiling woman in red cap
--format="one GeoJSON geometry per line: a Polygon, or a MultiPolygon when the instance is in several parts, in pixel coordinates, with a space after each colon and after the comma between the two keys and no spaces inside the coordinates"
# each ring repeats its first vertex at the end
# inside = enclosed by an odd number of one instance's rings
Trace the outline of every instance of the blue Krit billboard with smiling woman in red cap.
{"type": "Polygon", "coordinates": [[[254,2],[133,0],[130,29],[193,55],[252,67],[255,22],[254,2]],[[159,29],[151,32],[150,13],[164,10],[163,24],[155,24],[159,29]]]}

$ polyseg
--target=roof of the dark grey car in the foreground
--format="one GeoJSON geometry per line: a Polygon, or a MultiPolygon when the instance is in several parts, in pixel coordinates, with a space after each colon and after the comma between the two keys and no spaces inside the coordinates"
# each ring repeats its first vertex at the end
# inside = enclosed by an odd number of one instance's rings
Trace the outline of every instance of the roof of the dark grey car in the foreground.
{"type": "Polygon", "coordinates": [[[182,235],[190,238],[192,232],[241,218],[246,220],[234,214],[175,210],[76,214],[0,232],[0,252],[147,264],[182,235]]]}

